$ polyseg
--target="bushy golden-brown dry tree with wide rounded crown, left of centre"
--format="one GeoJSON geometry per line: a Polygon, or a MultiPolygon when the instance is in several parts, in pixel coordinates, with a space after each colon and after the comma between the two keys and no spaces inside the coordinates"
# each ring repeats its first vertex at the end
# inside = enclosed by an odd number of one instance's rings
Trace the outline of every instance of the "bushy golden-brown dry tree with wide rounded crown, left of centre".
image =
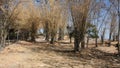
{"type": "Polygon", "coordinates": [[[32,0],[27,0],[21,5],[22,12],[19,14],[19,30],[25,40],[35,42],[36,33],[40,26],[40,10],[32,0]],[[24,6],[26,5],[26,7],[24,6]]]}

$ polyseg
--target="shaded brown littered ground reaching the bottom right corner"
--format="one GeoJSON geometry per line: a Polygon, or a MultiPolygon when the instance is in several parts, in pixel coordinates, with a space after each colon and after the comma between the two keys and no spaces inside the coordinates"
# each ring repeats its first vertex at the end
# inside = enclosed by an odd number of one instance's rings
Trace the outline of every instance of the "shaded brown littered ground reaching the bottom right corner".
{"type": "Polygon", "coordinates": [[[96,48],[88,48],[81,50],[79,53],[74,53],[73,46],[70,43],[59,43],[58,45],[47,44],[45,42],[34,43],[34,46],[26,47],[32,52],[55,52],[57,55],[69,57],[73,60],[85,61],[91,65],[102,66],[102,68],[119,68],[120,58],[113,53],[106,53],[96,48]],[[66,45],[62,45],[66,44],[66,45]],[[94,63],[94,64],[92,64],[94,63]]]}

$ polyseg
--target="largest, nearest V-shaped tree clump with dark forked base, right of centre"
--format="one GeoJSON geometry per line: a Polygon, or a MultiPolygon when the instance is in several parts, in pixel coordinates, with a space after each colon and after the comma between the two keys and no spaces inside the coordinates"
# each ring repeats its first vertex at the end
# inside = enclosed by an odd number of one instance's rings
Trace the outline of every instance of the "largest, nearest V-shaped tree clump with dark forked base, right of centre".
{"type": "Polygon", "coordinates": [[[90,0],[69,1],[71,16],[74,23],[74,51],[79,51],[79,44],[84,48],[86,19],[89,12],[90,0]]]}

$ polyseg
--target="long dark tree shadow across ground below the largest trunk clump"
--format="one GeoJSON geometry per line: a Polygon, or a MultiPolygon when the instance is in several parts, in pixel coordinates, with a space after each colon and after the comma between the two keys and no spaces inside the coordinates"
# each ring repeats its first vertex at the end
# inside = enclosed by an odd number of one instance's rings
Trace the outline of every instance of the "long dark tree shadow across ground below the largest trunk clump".
{"type": "MultiPolygon", "coordinates": [[[[60,43],[60,44],[64,44],[64,43],[60,43]]],[[[105,61],[106,63],[104,64],[108,64],[108,63],[111,65],[120,64],[120,58],[117,57],[117,54],[106,53],[95,48],[82,49],[80,52],[75,53],[71,44],[68,45],[66,47],[70,47],[70,48],[66,48],[61,45],[56,46],[56,45],[46,44],[45,42],[42,43],[39,42],[35,44],[36,47],[28,47],[28,49],[37,53],[41,53],[41,51],[45,53],[54,52],[59,56],[71,57],[70,59],[77,61],[83,61],[83,60],[91,61],[91,59],[97,59],[97,60],[105,61]]]]}

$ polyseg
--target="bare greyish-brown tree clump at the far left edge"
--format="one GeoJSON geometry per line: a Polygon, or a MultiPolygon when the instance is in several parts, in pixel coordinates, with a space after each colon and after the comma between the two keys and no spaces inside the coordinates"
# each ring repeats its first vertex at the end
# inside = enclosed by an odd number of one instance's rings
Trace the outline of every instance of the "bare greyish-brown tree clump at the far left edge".
{"type": "Polygon", "coordinates": [[[2,5],[0,6],[1,9],[1,20],[0,20],[0,43],[1,47],[5,47],[6,37],[8,35],[8,30],[11,26],[12,21],[14,22],[17,18],[18,12],[16,9],[18,8],[20,1],[17,2],[15,5],[12,3],[14,0],[4,0],[1,1],[2,5]],[[16,19],[14,19],[16,18],[16,19]]]}

